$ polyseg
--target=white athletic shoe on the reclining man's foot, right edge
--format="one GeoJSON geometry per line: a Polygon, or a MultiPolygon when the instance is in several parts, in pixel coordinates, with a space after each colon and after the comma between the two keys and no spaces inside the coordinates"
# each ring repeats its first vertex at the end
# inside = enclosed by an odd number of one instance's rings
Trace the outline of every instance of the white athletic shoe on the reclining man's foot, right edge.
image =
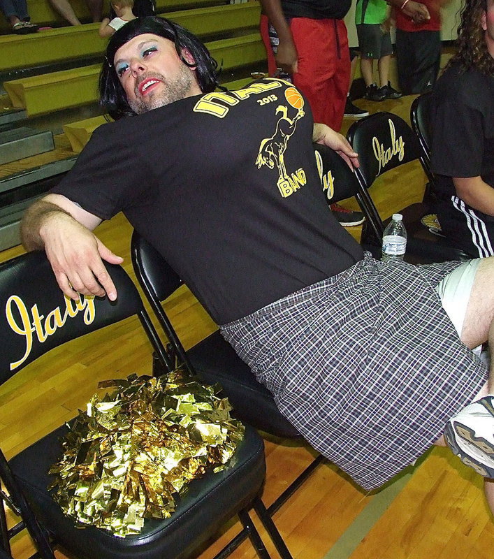
{"type": "Polygon", "coordinates": [[[494,396],[480,398],[453,416],[444,438],[464,464],[494,478],[494,396]]]}

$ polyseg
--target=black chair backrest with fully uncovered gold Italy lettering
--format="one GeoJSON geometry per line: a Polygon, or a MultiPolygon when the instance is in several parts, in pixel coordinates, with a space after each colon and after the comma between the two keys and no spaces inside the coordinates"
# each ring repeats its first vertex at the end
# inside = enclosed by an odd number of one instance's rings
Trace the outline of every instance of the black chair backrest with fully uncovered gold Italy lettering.
{"type": "Polygon", "coordinates": [[[376,112],[350,126],[347,138],[358,152],[356,170],[368,189],[386,171],[420,157],[419,142],[408,124],[391,112],[376,112]]]}

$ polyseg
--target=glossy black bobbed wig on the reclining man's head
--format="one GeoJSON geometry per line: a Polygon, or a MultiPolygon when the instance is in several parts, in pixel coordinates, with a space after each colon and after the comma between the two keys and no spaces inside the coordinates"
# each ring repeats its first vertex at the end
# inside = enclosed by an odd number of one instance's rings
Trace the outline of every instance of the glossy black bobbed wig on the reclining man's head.
{"type": "Polygon", "coordinates": [[[127,103],[124,89],[115,71],[113,64],[115,53],[131,39],[145,33],[164,37],[175,44],[177,55],[182,62],[191,68],[196,68],[197,80],[203,93],[214,91],[218,85],[217,62],[195,35],[164,17],[140,17],[126,23],[112,35],[106,47],[105,60],[99,75],[100,104],[115,120],[124,116],[136,115],[127,103]],[[184,48],[192,55],[194,64],[190,64],[182,56],[184,48]]]}

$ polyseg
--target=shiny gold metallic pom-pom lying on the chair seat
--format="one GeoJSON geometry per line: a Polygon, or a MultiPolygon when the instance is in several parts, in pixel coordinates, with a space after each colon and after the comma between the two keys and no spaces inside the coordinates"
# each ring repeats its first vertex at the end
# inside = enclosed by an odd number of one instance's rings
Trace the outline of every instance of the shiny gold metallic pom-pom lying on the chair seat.
{"type": "Polygon", "coordinates": [[[219,398],[177,369],[168,376],[101,382],[61,441],[50,486],[63,511],[124,537],[144,518],[168,518],[191,479],[226,467],[244,428],[219,398]]]}

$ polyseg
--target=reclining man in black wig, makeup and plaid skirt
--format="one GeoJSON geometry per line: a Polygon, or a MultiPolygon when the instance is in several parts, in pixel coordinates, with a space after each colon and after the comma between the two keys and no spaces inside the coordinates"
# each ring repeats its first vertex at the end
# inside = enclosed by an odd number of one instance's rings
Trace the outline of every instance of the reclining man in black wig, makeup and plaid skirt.
{"type": "Polygon", "coordinates": [[[442,433],[493,477],[494,387],[472,351],[494,336],[493,261],[372,259],[328,210],[314,158],[317,141],[358,165],[347,141],[283,80],[216,86],[188,31],[157,17],[119,29],[100,79],[117,122],[27,211],[24,245],[45,249],[68,297],[115,299],[102,260],[122,259],[92,230],[123,211],[280,411],[358,484],[380,486],[442,433]]]}

